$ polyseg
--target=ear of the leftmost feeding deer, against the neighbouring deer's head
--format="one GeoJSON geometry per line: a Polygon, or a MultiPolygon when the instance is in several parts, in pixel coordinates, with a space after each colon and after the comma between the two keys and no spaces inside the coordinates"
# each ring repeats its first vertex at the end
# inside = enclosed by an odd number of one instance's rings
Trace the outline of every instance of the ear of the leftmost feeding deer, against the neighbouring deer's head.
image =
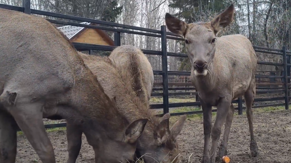
{"type": "Polygon", "coordinates": [[[145,129],[145,125],[147,124],[148,119],[138,119],[133,121],[127,129],[125,130],[125,139],[126,143],[134,143],[141,136],[143,130],[145,129]]]}

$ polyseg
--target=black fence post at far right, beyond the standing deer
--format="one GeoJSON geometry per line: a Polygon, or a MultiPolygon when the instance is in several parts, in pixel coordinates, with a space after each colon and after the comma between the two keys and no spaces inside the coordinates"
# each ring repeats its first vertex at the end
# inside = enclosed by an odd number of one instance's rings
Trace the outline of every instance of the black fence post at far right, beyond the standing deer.
{"type": "Polygon", "coordinates": [[[285,109],[289,109],[289,97],[288,97],[288,69],[287,69],[287,55],[286,47],[283,46],[283,64],[284,64],[284,92],[285,92],[285,109]]]}

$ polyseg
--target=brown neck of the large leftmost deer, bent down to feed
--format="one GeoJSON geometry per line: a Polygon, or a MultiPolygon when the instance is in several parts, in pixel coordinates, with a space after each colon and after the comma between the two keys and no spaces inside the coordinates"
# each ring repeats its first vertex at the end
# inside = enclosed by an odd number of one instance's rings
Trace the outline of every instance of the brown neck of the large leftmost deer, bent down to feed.
{"type": "Polygon", "coordinates": [[[99,130],[96,127],[100,127],[109,137],[122,133],[128,121],[105,94],[97,78],[90,70],[87,71],[76,76],[71,105],[81,113],[84,124],[91,130],[99,130]]]}

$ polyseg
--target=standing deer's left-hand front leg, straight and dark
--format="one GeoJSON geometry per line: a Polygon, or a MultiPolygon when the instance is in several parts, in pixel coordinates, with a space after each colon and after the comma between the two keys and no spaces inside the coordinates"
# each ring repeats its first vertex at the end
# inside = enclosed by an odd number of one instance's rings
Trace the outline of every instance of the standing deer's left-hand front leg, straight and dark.
{"type": "Polygon", "coordinates": [[[201,100],[201,106],[203,110],[203,128],[204,128],[204,149],[202,156],[202,163],[209,162],[209,140],[211,133],[211,125],[212,125],[212,107],[205,104],[201,100]]]}

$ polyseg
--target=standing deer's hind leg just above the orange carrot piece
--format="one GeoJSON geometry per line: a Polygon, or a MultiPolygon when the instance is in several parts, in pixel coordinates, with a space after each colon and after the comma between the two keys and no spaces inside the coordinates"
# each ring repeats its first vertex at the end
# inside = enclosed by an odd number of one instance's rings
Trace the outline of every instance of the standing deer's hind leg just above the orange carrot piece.
{"type": "Polygon", "coordinates": [[[227,142],[228,142],[228,136],[230,132],[230,127],[233,122],[233,114],[235,112],[235,108],[233,107],[233,104],[230,105],[230,108],[228,110],[228,114],[226,116],[225,121],[225,128],[223,133],[223,141],[221,142],[220,148],[219,148],[219,161],[221,161],[222,157],[227,155],[227,142]]]}

